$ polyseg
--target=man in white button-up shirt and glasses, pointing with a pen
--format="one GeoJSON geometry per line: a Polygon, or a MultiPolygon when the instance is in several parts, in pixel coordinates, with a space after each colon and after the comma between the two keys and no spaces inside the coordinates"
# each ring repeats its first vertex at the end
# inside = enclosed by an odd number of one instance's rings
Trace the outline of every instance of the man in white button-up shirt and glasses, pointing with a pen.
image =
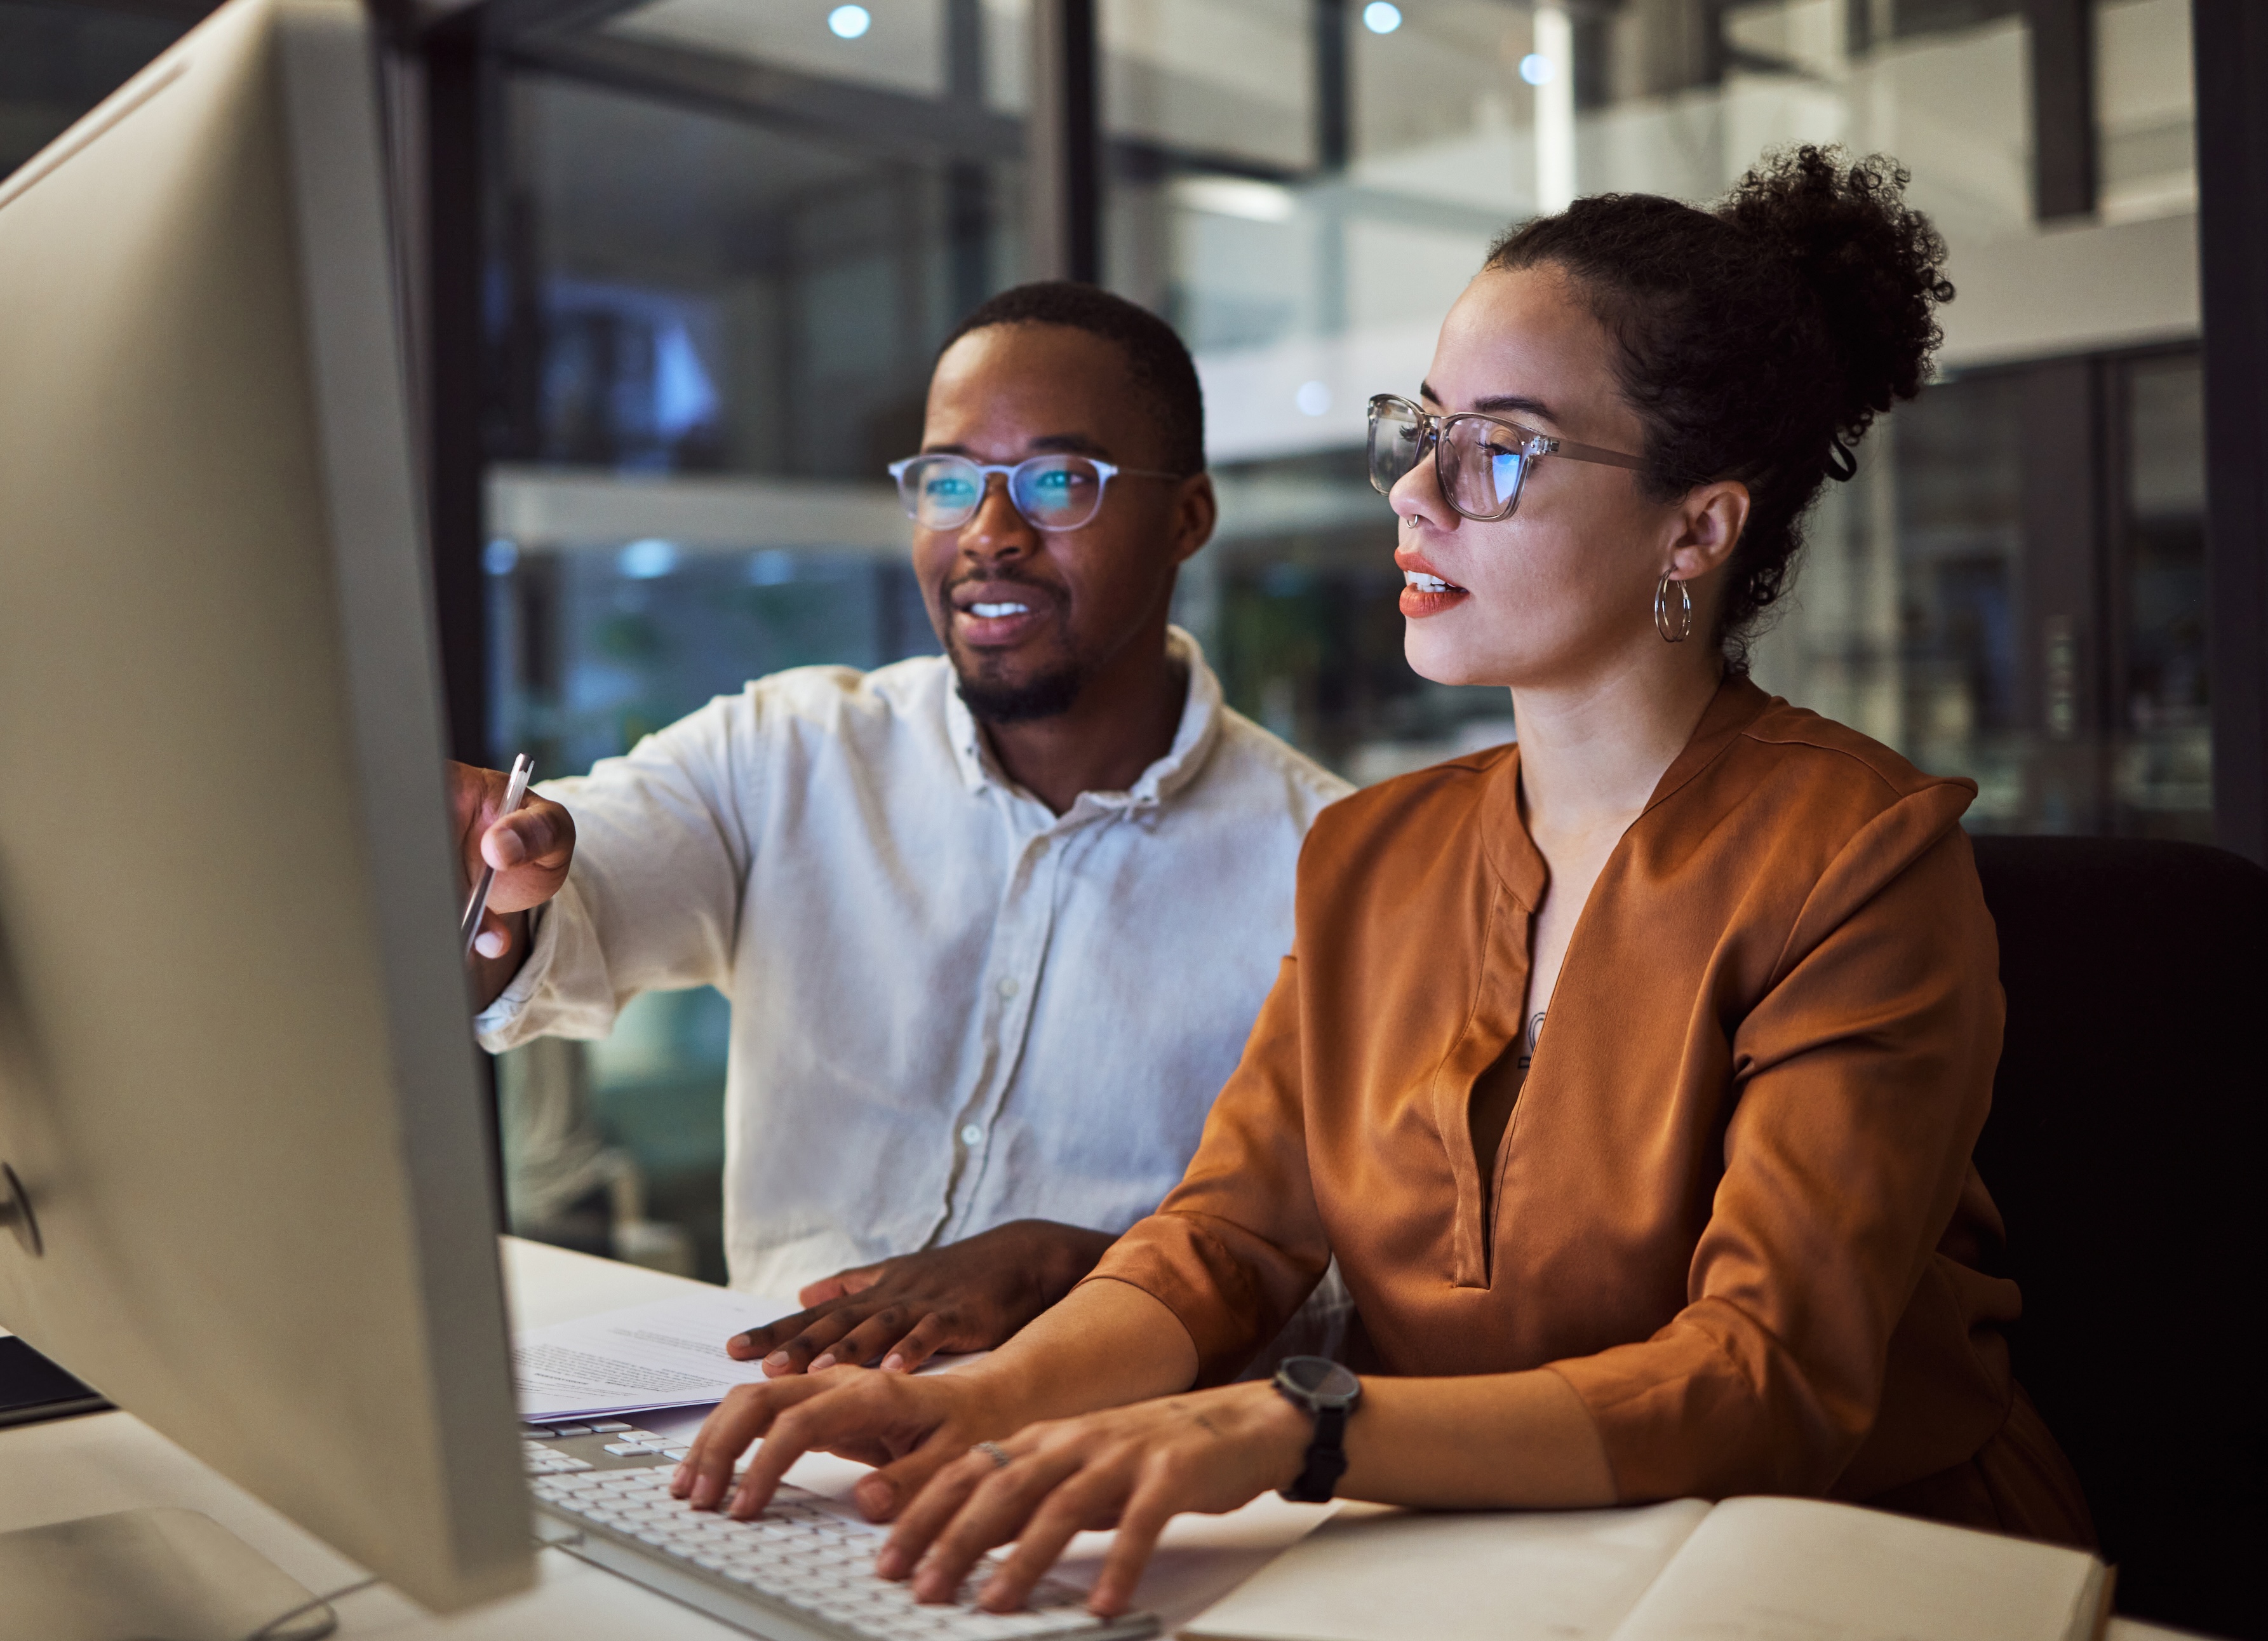
{"type": "Polygon", "coordinates": [[[456,772],[485,1046],[733,999],[733,1285],[812,1307],[733,1341],[771,1373],[993,1346],[1157,1207],[1347,792],[1166,622],[1216,504],[1159,318],[993,297],[896,472],[941,658],[760,679],[503,819],[456,772]]]}

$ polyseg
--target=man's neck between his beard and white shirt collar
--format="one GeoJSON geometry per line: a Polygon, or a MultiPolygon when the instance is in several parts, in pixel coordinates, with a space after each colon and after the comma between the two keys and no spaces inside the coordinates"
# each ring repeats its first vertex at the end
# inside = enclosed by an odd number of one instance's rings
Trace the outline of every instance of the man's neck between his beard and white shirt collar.
{"type": "Polygon", "coordinates": [[[1066,710],[1023,724],[984,724],[1000,772],[1061,815],[1080,792],[1125,792],[1173,749],[1188,701],[1188,667],[1136,638],[1086,679],[1066,710]]]}

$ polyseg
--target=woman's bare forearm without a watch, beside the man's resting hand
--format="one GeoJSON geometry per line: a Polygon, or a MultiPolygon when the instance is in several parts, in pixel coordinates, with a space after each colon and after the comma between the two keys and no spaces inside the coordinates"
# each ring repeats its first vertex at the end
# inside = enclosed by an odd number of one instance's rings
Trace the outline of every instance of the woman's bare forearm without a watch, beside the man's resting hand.
{"type": "Polygon", "coordinates": [[[1198,1346],[1161,1301],[1102,1280],[1070,1289],[964,1373],[1021,1428],[1188,1389],[1198,1346]]]}

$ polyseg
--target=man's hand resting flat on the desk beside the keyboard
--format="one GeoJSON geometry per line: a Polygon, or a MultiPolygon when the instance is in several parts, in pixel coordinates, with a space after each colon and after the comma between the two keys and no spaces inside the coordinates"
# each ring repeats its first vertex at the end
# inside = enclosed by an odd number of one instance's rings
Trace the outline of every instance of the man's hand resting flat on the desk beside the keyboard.
{"type": "Polygon", "coordinates": [[[991,1350],[1077,1287],[1116,1237],[1050,1219],[1016,1219],[928,1253],[862,1264],[812,1282],[805,1310],[726,1341],[764,1373],[880,1362],[912,1373],[939,1350],[991,1350]]]}

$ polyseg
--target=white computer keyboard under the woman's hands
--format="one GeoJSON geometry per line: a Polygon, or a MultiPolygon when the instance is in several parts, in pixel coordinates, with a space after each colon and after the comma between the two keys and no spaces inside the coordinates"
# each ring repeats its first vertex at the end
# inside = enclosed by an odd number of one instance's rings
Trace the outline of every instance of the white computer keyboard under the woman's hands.
{"type": "Polygon", "coordinates": [[[953,1602],[925,1607],[905,1584],[873,1573],[887,1528],[801,1487],[780,1487],[755,1521],[692,1509],[669,1496],[683,1453],[619,1423],[531,1430],[528,1489],[544,1514],[576,1530],[549,1541],[767,1641],[1123,1641],[1157,1632],[1150,1614],[1095,1618],[1086,1593],[1059,1580],[1041,1580],[1023,1611],[982,1611],[973,1600],[993,1557],[953,1602]]]}

